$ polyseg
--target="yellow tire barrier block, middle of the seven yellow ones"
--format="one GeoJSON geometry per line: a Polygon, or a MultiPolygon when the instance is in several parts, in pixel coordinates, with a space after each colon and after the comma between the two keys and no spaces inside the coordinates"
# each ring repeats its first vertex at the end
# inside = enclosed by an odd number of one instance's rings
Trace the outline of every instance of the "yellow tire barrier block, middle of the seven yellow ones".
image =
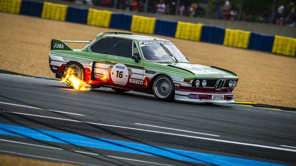
{"type": "Polygon", "coordinates": [[[156,18],[133,15],[131,31],[154,34],[156,18]]]}

